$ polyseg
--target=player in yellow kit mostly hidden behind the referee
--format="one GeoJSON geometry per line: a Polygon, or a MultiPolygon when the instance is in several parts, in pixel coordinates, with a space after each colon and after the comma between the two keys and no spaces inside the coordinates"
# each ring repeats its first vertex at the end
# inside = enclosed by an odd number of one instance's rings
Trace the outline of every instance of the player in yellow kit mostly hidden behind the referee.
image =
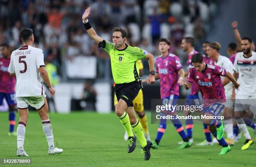
{"type": "MultiPolygon", "coordinates": [[[[143,76],[143,64],[142,64],[141,60],[138,60],[138,68],[139,68],[139,76],[141,77],[141,76],[143,76]]],[[[115,87],[115,84],[114,84],[114,87],[115,87]]],[[[116,95],[114,94],[114,106],[116,106],[117,104],[118,104],[118,100],[117,100],[116,95]]],[[[138,119],[143,128],[143,132],[144,132],[144,136],[145,136],[146,140],[151,141],[149,131],[148,131],[148,117],[144,112],[142,89],[138,92],[138,95],[133,100],[133,107],[138,115],[138,119]]],[[[126,131],[125,131],[124,139],[128,140],[128,134],[126,131]]]]}

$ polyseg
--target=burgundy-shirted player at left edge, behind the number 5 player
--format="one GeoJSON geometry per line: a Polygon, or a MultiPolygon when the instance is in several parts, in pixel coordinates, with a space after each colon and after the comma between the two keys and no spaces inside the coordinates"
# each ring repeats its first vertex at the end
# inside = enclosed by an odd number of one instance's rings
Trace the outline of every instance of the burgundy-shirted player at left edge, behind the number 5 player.
{"type": "Polygon", "coordinates": [[[15,126],[15,77],[10,76],[8,66],[10,64],[10,49],[8,44],[1,44],[0,51],[3,55],[0,58],[0,106],[3,104],[3,98],[7,101],[9,107],[9,133],[16,136],[15,126]]]}

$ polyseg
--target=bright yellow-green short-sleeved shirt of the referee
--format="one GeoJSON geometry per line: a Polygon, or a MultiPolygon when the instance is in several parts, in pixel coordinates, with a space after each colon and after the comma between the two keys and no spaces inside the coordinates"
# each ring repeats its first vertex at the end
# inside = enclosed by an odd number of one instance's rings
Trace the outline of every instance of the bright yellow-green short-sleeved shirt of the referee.
{"type": "Polygon", "coordinates": [[[147,52],[126,45],[126,48],[118,50],[113,43],[105,40],[104,50],[110,55],[111,69],[115,83],[129,83],[138,80],[138,60],[147,56],[147,52]]]}

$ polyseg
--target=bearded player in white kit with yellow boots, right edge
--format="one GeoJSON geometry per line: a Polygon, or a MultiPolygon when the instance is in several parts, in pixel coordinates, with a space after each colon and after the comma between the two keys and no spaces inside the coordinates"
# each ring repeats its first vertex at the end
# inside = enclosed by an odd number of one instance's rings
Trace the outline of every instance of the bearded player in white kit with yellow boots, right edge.
{"type": "Polygon", "coordinates": [[[237,94],[232,92],[232,99],[235,99],[235,118],[239,129],[244,134],[246,142],[244,143],[242,150],[248,149],[253,144],[246,124],[243,120],[245,112],[252,111],[251,119],[255,119],[256,114],[256,53],[251,50],[253,45],[252,39],[249,37],[242,38],[241,46],[243,52],[236,54],[234,62],[234,77],[239,77],[240,87],[237,94]]]}

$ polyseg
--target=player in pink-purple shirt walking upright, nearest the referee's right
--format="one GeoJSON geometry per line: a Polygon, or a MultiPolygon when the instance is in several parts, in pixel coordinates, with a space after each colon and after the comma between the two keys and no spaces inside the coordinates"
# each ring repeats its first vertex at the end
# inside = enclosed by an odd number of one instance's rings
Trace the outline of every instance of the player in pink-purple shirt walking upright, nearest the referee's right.
{"type": "MultiPolygon", "coordinates": [[[[167,40],[166,38],[161,38],[158,43],[158,48],[161,52],[161,56],[156,58],[155,79],[160,79],[160,94],[163,101],[162,105],[176,105],[176,101],[179,98],[179,84],[182,83],[182,78],[184,77],[184,70],[179,61],[179,58],[176,55],[169,53],[169,40],[167,40]]],[[[146,80],[143,81],[145,82],[146,80]]],[[[167,114],[170,113],[167,111],[160,112],[160,116],[167,116],[167,114]]],[[[174,112],[172,114],[176,115],[177,113],[174,112]]],[[[191,143],[189,142],[189,139],[184,132],[184,128],[182,127],[182,123],[180,122],[180,120],[172,119],[171,121],[183,140],[183,143],[179,148],[184,149],[190,147],[191,143]]],[[[156,139],[152,141],[152,148],[159,148],[159,142],[164,135],[165,129],[166,119],[160,119],[156,139]]]]}

